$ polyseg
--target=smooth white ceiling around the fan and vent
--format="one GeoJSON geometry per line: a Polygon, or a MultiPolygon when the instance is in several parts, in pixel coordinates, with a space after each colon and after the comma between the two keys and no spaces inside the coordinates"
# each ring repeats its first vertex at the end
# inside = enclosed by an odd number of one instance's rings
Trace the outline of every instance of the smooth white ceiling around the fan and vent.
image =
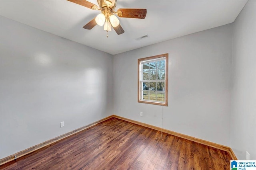
{"type": "MultiPolygon", "coordinates": [[[[97,4],[96,0],[89,0],[97,4]]],[[[118,0],[118,8],[146,8],[144,20],[119,18],[125,33],[96,25],[99,11],[67,0],[0,0],[0,15],[112,55],[234,22],[247,0],[118,0]],[[148,38],[136,40],[148,35],[148,38]]]]}

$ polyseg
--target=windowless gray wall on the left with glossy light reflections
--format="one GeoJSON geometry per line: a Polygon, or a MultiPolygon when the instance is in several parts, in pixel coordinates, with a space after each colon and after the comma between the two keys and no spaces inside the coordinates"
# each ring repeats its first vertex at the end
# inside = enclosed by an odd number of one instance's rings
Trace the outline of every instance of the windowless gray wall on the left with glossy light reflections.
{"type": "Polygon", "coordinates": [[[0,21],[0,158],[112,115],[112,55],[0,21]]]}

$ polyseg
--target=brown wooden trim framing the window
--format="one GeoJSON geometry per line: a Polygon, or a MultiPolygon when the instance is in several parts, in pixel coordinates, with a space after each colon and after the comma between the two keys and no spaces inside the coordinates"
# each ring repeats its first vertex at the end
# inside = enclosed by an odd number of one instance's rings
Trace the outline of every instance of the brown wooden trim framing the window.
{"type": "Polygon", "coordinates": [[[138,59],[138,102],[145,103],[145,104],[168,106],[168,53],[138,59]],[[140,62],[145,61],[145,60],[157,59],[157,58],[161,58],[161,57],[166,57],[166,59],[165,59],[165,70],[166,70],[165,71],[165,103],[149,102],[149,101],[140,100],[140,88],[141,88],[140,87],[140,62]]]}

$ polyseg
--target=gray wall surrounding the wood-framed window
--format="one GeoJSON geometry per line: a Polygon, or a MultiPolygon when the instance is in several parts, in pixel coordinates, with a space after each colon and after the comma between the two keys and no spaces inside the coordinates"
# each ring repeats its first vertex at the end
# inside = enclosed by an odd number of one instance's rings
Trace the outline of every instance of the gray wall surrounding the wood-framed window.
{"type": "Polygon", "coordinates": [[[232,24],[115,55],[114,114],[161,127],[162,106],[137,102],[137,59],[163,53],[169,53],[163,128],[229,146],[232,24]]]}

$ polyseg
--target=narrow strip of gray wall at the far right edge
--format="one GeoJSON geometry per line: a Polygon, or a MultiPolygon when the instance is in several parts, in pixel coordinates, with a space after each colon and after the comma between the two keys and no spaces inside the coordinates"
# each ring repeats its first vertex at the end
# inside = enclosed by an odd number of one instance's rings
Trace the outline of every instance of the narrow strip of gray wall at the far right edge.
{"type": "Polygon", "coordinates": [[[256,160],[256,1],[234,22],[231,147],[238,159],[256,160]]]}

